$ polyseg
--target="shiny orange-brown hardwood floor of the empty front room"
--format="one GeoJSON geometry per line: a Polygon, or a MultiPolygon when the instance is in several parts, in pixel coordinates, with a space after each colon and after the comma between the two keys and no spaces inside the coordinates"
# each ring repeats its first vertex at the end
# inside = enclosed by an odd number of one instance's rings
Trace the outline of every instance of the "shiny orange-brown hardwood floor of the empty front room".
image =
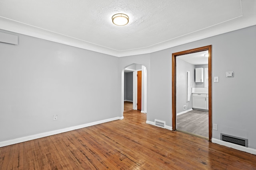
{"type": "Polygon", "coordinates": [[[256,155],[146,122],[111,121],[0,148],[1,170],[255,170],[256,155]]]}

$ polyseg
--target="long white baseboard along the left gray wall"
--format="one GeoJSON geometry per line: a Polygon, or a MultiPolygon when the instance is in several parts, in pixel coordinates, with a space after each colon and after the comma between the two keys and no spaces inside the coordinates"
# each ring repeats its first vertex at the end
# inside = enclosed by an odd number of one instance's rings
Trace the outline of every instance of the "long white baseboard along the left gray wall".
{"type": "Polygon", "coordinates": [[[64,133],[64,132],[73,131],[73,130],[76,130],[76,129],[81,129],[81,128],[84,128],[84,127],[89,127],[89,126],[98,125],[98,124],[101,124],[101,123],[106,123],[106,122],[109,122],[109,121],[122,120],[122,119],[124,119],[124,117],[114,117],[114,118],[110,118],[110,119],[95,121],[95,122],[92,122],[92,123],[86,123],[86,124],[83,124],[83,125],[67,127],[67,128],[64,128],[64,129],[58,129],[58,130],[55,130],[55,131],[39,133],[39,134],[36,134],[36,135],[30,135],[30,136],[26,136],[26,137],[17,138],[17,139],[11,139],[11,140],[8,140],[8,141],[2,141],[2,142],[0,142],[0,147],[5,147],[5,146],[13,145],[13,144],[16,144],[16,143],[26,142],[26,141],[30,141],[30,140],[34,140],[34,139],[39,139],[39,138],[42,138],[42,137],[56,135],[56,134],[59,134],[59,133],[64,133]]]}

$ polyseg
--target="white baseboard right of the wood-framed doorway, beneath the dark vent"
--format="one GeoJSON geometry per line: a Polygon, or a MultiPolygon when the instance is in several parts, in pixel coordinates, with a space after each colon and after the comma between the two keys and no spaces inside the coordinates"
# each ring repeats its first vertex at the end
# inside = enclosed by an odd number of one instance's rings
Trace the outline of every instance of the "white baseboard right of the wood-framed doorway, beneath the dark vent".
{"type": "Polygon", "coordinates": [[[233,148],[233,149],[241,150],[241,151],[248,152],[248,153],[251,153],[251,154],[256,154],[256,149],[243,147],[243,146],[236,145],[236,144],[233,144],[233,143],[221,141],[219,139],[212,138],[212,143],[216,143],[216,144],[223,145],[223,146],[226,146],[226,147],[230,147],[230,148],[233,148]]]}

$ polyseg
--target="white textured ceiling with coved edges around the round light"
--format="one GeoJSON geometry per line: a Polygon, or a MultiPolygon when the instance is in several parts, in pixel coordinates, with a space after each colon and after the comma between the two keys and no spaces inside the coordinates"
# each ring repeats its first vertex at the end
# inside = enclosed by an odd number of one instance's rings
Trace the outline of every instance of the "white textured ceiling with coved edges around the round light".
{"type": "Polygon", "coordinates": [[[252,25],[256,0],[0,0],[0,29],[116,57],[252,25]],[[128,25],[114,25],[116,13],[128,25]]]}

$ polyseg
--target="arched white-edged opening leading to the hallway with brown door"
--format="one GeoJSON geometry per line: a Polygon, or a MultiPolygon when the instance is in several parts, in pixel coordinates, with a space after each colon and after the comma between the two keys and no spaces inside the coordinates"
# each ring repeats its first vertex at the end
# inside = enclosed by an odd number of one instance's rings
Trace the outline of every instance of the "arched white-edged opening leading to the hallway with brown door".
{"type": "Polygon", "coordinates": [[[147,70],[140,64],[130,64],[122,72],[122,112],[138,110],[147,111],[147,70]]]}

